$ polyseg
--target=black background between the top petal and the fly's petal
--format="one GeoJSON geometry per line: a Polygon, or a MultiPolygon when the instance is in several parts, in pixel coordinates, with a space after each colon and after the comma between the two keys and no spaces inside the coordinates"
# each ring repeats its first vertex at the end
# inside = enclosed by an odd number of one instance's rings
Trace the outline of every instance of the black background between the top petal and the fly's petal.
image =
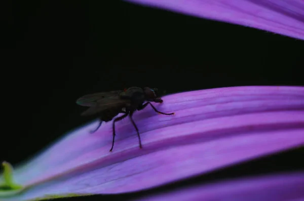
{"type": "Polygon", "coordinates": [[[13,165],[92,120],[75,104],[88,93],[304,86],[304,41],[287,36],[114,0],[1,4],[0,160],[13,165]]]}

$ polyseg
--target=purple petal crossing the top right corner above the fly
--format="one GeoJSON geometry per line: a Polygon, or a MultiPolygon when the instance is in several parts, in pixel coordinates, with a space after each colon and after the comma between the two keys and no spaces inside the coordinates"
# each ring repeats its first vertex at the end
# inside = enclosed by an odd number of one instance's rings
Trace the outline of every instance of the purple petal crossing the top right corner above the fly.
{"type": "Polygon", "coordinates": [[[303,0],[126,0],[304,39],[303,0]]]}

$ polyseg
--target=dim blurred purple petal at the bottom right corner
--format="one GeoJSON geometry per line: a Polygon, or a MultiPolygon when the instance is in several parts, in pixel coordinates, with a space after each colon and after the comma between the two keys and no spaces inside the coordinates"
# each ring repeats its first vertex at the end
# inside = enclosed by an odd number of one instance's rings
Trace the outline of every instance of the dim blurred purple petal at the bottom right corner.
{"type": "Polygon", "coordinates": [[[136,201],[140,200],[300,201],[304,200],[304,173],[272,175],[197,185],[191,188],[183,188],[169,193],[136,199],[136,201]]]}

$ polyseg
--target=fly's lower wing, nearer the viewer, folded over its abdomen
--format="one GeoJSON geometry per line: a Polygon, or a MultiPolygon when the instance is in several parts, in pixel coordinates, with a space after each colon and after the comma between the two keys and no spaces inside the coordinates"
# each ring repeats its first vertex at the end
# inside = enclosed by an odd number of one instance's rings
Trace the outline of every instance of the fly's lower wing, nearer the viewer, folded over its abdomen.
{"type": "Polygon", "coordinates": [[[97,100],[94,106],[84,111],[81,115],[93,115],[105,110],[111,111],[111,113],[119,113],[122,108],[128,105],[130,105],[129,99],[121,99],[120,96],[110,96],[97,100]]]}

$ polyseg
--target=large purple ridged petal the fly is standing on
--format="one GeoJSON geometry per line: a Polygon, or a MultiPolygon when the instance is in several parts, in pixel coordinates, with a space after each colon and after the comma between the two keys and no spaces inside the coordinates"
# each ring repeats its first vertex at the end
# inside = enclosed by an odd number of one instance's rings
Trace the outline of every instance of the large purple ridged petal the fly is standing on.
{"type": "Polygon", "coordinates": [[[163,99],[156,107],[176,115],[151,108],[134,114],[143,149],[129,119],[116,125],[113,152],[111,122],[94,134],[97,123],[78,129],[16,168],[15,182],[32,187],[18,200],[142,190],[304,145],[304,87],[219,88],[163,99]]]}

